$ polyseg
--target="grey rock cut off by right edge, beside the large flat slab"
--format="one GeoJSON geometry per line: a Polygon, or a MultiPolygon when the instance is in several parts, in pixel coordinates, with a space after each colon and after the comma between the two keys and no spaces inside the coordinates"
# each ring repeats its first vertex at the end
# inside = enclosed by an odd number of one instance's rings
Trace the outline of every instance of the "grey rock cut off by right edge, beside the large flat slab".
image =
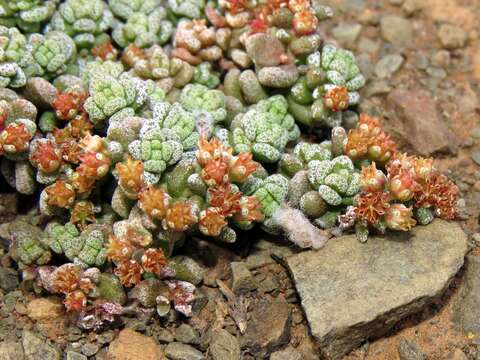
{"type": "Polygon", "coordinates": [[[453,306],[453,322],[480,339],[480,258],[467,256],[463,287],[453,306]]]}

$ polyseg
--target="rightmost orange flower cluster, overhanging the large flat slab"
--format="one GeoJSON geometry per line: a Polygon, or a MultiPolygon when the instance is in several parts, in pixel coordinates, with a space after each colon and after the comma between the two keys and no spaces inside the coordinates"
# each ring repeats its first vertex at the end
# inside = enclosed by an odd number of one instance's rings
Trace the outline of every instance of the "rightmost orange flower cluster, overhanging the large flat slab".
{"type": "Polygon", "coordinates": [[[443,219],[455,218],[459,190],[435,170],[432,159],[395,153],[386,172],[375,163],[362,168],[362,192],[355,208],[359,220],[370,225],[381,221],[390,229],[407,231],[416,224],[413,208],[430,208],[443,219]]]}

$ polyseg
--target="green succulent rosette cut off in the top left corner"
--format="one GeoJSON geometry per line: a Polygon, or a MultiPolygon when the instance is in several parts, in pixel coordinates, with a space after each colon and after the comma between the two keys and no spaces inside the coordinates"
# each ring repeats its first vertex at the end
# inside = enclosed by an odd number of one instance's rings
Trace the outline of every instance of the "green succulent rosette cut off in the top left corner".
{"type": "Polygon", "coordinates": [[[55,11],[57,0],[7,0],[0,2],[0,25],[18,26],[23,32],[34,33],[55,11]]]}

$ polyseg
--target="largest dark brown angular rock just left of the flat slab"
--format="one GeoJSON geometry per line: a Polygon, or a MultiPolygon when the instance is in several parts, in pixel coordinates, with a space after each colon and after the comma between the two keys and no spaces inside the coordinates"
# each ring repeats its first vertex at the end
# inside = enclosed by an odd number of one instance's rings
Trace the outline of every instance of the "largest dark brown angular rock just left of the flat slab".
{"type": "Polygon", "coordinates": [[[263,358],[290,340],[291,311],[282,298],[262,299],[251,313],[241,347],[263,358]]]}

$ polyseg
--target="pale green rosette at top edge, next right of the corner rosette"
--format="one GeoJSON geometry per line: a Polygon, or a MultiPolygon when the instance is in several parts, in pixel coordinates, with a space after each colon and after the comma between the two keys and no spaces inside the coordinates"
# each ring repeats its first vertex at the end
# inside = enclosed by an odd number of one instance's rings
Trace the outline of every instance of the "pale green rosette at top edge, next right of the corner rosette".
{"type": "Polygon", "coordinates": [[[67,0],[52,17],[52,30],[69,35],[79,48],[91,48],[113,24],[113,15],[102,0],[67,0]]]}

